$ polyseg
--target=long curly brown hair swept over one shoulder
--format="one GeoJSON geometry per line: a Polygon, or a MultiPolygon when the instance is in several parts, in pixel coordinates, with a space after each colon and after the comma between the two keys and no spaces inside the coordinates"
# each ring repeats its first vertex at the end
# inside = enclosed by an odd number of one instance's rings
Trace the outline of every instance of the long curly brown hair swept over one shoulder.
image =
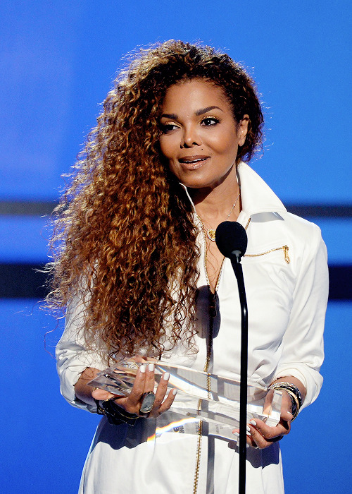
{"type": "Polygon", "coordinates": [[[237,162],[249,161],[263,126],[253,80],[227,54],[171,40],[141,49],[116,78],[55,210],[46,303],[62,311],[79,297],[87,347],[103,342],[107,360],[161,355],[166,341],[196,351],[197,231],[158,146],[166,90],[194,78],[225,90],[237,122],[249,115],[237,162]]]}

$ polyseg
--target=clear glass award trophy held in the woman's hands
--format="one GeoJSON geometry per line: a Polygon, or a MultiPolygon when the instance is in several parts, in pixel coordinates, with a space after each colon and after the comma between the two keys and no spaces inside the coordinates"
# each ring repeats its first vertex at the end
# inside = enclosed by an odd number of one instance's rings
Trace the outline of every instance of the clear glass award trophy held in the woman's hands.
{"type": "MultiPolygon", "coordinates": [[[[154,363],[156,385],[163,373],[168,372],[168,387],[175,388],[181,394],[177,395],[170,411],[187,419],[180,421],[183,432],[191,433],[201,420],[208,423],[209,434],[236,440],[232,430],[239,428],[239,381],[164,361],[151,362],[154,363]]],[[[132,390],[134,378],[142,363],[148,362],[122,360],[98,373],[89,385],[126,396],[132,390]]],[[[268,426],[276,426],[280,420],[281,399],[281,392],[249,382],[247,422],[252,418],[260,418],[268,426]]]]}

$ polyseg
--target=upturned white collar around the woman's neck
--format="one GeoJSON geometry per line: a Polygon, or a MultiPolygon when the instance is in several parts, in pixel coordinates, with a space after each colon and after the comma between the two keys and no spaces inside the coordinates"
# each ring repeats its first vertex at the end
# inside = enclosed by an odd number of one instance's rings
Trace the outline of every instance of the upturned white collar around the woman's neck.
{"type": "MultiPolygon", "coordinates": [[[[237,219],[239,223],[245,222],[246,219],[249,219],[253,215],[263,212],[273,213],[275,216],[287,212],[286,207],[284,207],[277,195],[248,164],[240,162],[237,165],[237,177],[241,187],[242,203],[242,210],[237,219]]],[[[187,187],[183,183],[180,183],[180,185],[186,191],[193,210],[196,212],[187,187]]]]}

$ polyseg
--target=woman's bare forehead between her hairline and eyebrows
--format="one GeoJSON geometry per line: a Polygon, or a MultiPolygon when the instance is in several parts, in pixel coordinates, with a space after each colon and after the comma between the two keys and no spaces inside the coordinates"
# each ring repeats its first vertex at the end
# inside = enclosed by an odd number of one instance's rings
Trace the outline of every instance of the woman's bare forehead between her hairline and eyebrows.
{"type": "Polygon", "coordinates": [[[170,107],[190,110],[205,107],[221,107],[232,111],[225,90],[210,80],[182,80],[170,86],[165,92],[163,110],[170,107]]]}

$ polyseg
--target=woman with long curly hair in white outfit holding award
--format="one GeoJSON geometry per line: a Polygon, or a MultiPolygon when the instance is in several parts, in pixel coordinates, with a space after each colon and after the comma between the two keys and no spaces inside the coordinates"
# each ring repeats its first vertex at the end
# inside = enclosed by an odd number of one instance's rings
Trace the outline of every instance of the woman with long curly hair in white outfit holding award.
{"type": "Polygon", "coordinates": [[[246,164],[262,126],[244,70],[183,42],[142,51],[104,102],[58,210],[50,297],[68,306],[61,392],[106,415],[80,493],[237,492],[237,431],[233,440],[206,426],[161,433],[175,420],[170,406],[187,400],[167,392],[168,373],[149,414],[141,406],[153,391],[151,363],[128,397],[87,385],[122,356],[239,378],[237,284],[214,241],[225,220],[249,239],[249,378],[283,390],[277,426],[247,426],[246,488],[284,492],[278,440],[322,384],[327,260],[318,227],[289,214],[246,164]]]}

